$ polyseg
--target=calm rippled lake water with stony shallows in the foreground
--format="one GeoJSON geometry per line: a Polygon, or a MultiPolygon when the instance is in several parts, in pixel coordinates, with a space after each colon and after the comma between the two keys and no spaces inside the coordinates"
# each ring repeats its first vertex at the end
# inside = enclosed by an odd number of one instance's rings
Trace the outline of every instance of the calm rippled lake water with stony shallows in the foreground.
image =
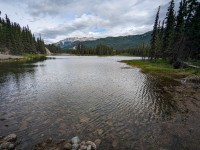
{"type": "Polygon", "coordinates": [[[100,150],[199,148],[199,130],[188,134],[185,114],[160,90],[176,83],[118,62],[139,58],[52,57],[0,64],[0,135],[16,133],[19,148],[74,136],[101,139],[100,150]]]}

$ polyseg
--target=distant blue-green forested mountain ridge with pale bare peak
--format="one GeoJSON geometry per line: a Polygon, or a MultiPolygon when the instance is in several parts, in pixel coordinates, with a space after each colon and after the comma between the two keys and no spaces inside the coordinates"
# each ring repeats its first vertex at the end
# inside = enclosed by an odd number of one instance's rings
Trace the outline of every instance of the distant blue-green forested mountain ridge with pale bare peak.
{"type": "Polygon", "coordinates": [[[129,35],[119,37],[106,37],[106,38],[67,38],[65,40],[55,43],[55,45],[61,48],[73,48],[79,42],[85,46],[94,47],[97,44],[105,44],[112,46],[114,49],[126,49],[141,46],[143,43],[149,45],[151,39],[151,33],[147,32],[140,35],[129,35]]]}

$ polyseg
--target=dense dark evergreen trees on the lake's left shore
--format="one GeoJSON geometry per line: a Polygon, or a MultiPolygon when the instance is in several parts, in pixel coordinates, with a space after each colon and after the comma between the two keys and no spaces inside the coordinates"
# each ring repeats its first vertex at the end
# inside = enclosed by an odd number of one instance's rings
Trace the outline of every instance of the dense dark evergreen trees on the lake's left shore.
{"type": "Polygon", "coordinates": [[[45,44],[40,38],[35,38],[29,27],[21,27],[11,22],[8,16],[1,17],[0,11],[0,52],[21,54],[45,54],[45,44]]]}

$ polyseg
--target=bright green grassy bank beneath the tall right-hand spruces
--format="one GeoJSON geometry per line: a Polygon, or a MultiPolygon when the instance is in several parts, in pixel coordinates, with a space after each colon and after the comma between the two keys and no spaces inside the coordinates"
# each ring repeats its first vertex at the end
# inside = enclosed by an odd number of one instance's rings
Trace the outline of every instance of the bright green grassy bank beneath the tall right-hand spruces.
{"type": "Polygon", "coordinates": [[[196,74],[200,76],[200,71],[193,68],[174,69],[171,64],[164,60],[123,60],[128,65],[141,68],[144,73],[158,74],[163,76],[187,76],[196,74]]]}

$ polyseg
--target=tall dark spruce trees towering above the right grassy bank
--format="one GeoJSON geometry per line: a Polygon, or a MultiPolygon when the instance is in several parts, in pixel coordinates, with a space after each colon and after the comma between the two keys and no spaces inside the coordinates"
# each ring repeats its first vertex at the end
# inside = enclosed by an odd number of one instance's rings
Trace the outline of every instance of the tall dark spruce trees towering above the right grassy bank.
{"type": "Polygon", "coordinates": [[[159,7],[149,57],[151,60],[163,58],[174,65],[200,59],[200,2],[181,0],[177,15],[174,7],[174,0],[171,0],[162,25],[159,7]]]}

